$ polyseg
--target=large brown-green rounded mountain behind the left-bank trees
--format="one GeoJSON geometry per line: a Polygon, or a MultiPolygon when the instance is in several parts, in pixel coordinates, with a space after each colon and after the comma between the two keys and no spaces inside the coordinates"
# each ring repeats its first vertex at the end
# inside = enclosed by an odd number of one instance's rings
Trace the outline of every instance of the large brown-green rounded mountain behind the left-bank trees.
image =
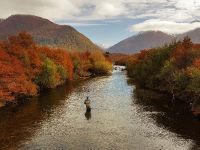
{"type": "Polygon", "coordinates": [[[34,40],[41,45],[79,51],[100,49],[73,27],[58,25],[41,17],[12,15],[0,22],[1,40],[22,31],[30,33],[34,40]]]}

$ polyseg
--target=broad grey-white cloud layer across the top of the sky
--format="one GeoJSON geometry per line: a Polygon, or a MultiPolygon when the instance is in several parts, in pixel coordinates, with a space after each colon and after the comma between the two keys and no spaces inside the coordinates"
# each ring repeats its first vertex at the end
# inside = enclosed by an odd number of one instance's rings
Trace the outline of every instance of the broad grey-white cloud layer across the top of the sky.
{"type": "Polygon", "coordinates": [[[165,19],[191,21],[199,0],[1,0],[0,18],[33,14],[59,20],[165,19]],[[177,16],[178,15],[178,16],[177,16]]]}

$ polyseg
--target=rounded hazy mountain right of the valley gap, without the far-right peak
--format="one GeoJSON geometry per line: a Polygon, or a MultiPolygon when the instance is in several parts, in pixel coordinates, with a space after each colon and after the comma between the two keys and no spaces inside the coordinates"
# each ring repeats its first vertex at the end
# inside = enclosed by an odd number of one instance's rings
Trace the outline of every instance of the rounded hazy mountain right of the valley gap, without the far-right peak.
{"type": "Polygon", "coordinates": [[[111,53],[131,54],[142,49],[162,46],[172,41],[174,37],[161,31],[147,31],[129,37],[108,49],[111,53]]]}

